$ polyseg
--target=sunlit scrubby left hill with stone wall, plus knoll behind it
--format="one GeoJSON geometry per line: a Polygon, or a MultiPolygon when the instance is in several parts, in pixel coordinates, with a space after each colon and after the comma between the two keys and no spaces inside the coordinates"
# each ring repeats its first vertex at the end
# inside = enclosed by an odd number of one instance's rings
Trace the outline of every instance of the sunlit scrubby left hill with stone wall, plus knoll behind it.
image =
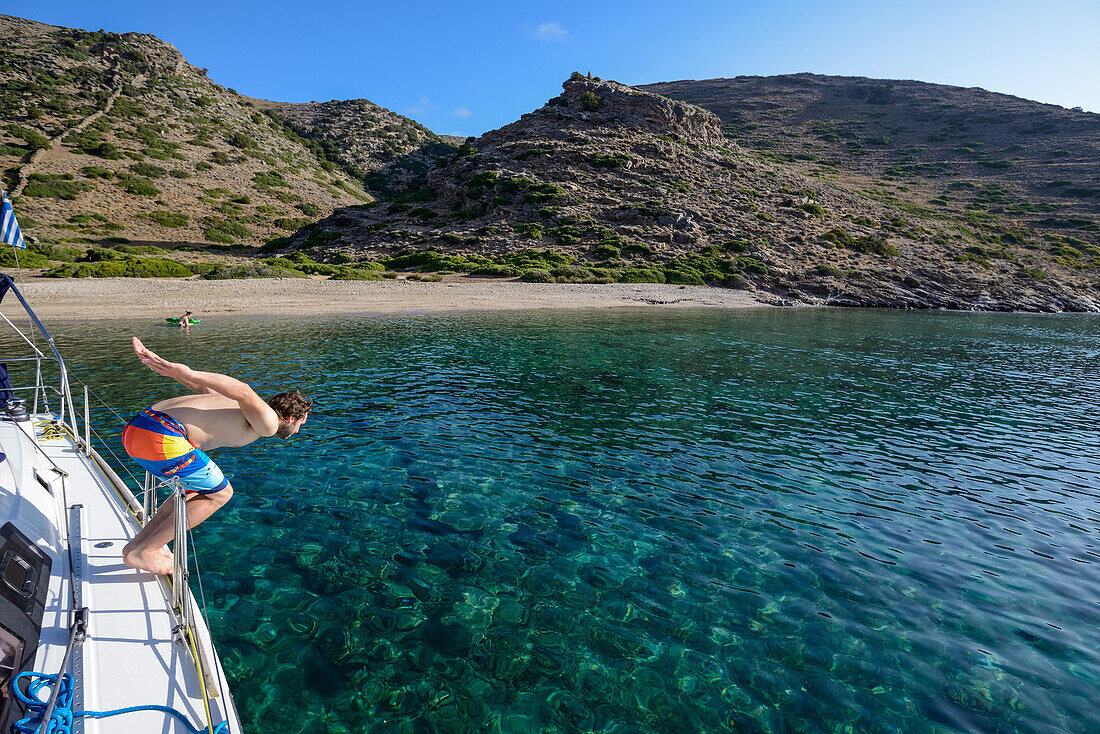
{"type": "Polygon", "coordinates": [[[258,244],[370,201],[359,172],[433,138],[365,100],[242,97],[150,35],[0,15],[0,166],[32,241],[258,244]],[[351,138],[374,145],[315,139],[367,107],[351,138]]]}

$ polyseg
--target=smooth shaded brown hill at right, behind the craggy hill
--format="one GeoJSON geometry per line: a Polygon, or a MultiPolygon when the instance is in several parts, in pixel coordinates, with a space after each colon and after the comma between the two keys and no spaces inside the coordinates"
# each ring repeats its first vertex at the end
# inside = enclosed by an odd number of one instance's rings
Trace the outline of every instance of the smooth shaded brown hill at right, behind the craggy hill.
{"type": "Polygon", "coordinates": [[[1100,114],[985,89],[813,74],[642,88],[711,110],[763,160],[884,188],[937,215],[989,212],[1078,237],[1100,215],[1100,114]]]}

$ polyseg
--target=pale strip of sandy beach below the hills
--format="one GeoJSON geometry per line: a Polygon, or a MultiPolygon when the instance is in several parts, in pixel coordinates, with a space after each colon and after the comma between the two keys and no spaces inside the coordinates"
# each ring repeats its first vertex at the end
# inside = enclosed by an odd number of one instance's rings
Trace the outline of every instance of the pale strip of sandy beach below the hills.
{"type": "MultiPolygon", "coordinates": [[[[750,308],[746,291],[707,286],[520,283],[449,276],[417,281],[257,278],[20,278],[20,291],[43,319],[152,318],[186,310],[204,316],[397,314],[556,308],[750,308]]],[[[10,297],[0,313],[22,315],[10,297]]]]}

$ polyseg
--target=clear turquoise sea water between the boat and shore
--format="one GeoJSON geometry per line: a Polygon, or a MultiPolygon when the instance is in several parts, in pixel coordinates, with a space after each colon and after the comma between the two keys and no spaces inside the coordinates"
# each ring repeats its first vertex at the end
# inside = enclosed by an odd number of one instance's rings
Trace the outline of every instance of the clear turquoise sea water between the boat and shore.
{"type": "Polygon", "coordinates": [[[1100,731],[1096,317],[53,328],[317,398],[196,530],[249,732],[1100,731]]]}

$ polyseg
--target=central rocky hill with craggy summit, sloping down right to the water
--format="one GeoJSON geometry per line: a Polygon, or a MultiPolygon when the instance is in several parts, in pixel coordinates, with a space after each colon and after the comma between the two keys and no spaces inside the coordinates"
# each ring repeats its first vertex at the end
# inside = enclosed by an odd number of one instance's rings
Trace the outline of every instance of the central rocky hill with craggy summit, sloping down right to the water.
{"type": "Polygon", "coordinates": [[[420,188],[334,212],[320,224],[331,242],[312,252],[549,248],[576,261],[560,280],[712,282],[809,303],[1097,308],[1100,242],[1088,197],[1074,199],[1068,223],[1044,223],[1065,215],[1014,198],[1014,184],[979,161],[937,191],[949,197],[942,206],[922,204],[910,196],[913,180],[888,179],[887,162],[845,176],[801,152],[743,146],[728,124],[574,74],[561,96],[468,141],[420,188]]]}

